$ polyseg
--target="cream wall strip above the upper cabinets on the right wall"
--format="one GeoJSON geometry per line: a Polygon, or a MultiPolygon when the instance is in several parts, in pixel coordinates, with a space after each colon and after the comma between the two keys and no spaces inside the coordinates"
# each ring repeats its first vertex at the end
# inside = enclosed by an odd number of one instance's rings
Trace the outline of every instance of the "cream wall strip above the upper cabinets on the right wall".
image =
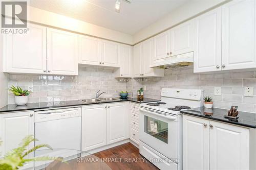
{"type": "Polygon", "coordinates": [[[173,27],[190,17],[193,17],[223,2],[227,2],[227,0],[190,0],[188,3],[180,6],[162,19],[159,19],[152,25],[133,35],[133,44],[173,27]]]}

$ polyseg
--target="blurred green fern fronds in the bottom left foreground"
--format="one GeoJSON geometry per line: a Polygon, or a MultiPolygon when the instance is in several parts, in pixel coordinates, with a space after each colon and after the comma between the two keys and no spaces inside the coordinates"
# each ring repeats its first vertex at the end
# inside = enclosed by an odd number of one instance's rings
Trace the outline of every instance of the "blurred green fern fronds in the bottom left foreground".
{"type": "MultiPolygon", "coordinates": [[[[7,152],[4,158],[0,159],[0,170],[19,169],[20,167],[23,167],[24,164],[30,161],[48,161],[48,160],[62,161],[63,160],[60,157],[56,158],[56,157],[49,157],[49,156],[26,158],[27,155],[29,155],[30,153],[33,153],[34,151],[40,148],[45,147],[52,150],[52,148],[48,144],[39,144],[31,149],[28,149],[29,144],[34,141],[38,141],[38,140],[35,139],[33,135],[29,135],[22,140],[18,148],[15,148],[7,152]]],[[[2,144],[2,141],[0,141],[0,145],[1,144],[2,144]]]]}

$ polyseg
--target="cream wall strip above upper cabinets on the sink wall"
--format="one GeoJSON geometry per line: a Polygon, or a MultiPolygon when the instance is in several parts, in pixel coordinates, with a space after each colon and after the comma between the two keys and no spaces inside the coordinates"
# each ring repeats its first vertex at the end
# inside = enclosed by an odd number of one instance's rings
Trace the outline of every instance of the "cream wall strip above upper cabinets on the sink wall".
{"type": "Polygon", "coordinates": [[[59,15],[30,6],[28,6],[28,20],[126,44],[133,43],[132,35],[124,34],[118,31],[96,26],[88,22],[80,21],[71,17],[59,15]]]}

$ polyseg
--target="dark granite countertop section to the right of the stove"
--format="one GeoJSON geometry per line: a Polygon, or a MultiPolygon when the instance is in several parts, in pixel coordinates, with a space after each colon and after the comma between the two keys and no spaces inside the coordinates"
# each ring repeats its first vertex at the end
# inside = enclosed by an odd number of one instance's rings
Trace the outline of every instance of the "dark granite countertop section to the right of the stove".
{"type": "Polygon", "coordinates": [[[228,119],[224,117],[225,115],[228,114],[227,109],[220,109],[220,108],[208,109],[204,107],[199,107],[194,109],[182,110],[180,112],[183,114],[203,117],[203,118],[212,119],[212,120],[218,120],[220,122],[225,122],[229,124],[240,125],[240,126],[256,129],[256,113],[239,111],[238,119],[228,119]]]}

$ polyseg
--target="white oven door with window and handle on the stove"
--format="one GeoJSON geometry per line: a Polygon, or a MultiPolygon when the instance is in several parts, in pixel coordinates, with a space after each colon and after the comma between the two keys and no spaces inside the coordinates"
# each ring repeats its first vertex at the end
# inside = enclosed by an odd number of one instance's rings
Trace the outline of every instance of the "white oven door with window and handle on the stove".
{"type": "Polygon", "coordinates": [[[178,159],[178,116],[140,107],[139,139],[169,159],[178,159]]]}

